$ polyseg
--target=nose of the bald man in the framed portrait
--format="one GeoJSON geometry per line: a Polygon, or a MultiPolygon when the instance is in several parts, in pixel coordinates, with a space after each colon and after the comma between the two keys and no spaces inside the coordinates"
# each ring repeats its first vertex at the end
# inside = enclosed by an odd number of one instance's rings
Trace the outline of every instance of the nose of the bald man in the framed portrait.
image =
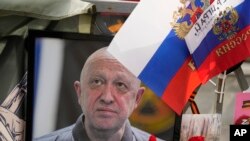
{"type": "Polygon", "coordinates": [[[114,102],[114,97],[112,93],[112,86],[106,85],[102,91],[101,102],[105,104],[111,104],[114,102]]]}

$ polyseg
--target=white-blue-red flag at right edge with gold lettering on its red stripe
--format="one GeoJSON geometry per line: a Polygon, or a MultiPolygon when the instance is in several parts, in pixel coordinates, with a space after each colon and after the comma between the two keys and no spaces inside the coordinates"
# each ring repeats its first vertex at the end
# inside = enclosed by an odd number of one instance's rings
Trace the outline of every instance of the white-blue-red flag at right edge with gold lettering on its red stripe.
{"type": "Polygon", "coordinates": [[[215,0],[185,37],[202,82],[250,56],[250,1],[215,0]]]}

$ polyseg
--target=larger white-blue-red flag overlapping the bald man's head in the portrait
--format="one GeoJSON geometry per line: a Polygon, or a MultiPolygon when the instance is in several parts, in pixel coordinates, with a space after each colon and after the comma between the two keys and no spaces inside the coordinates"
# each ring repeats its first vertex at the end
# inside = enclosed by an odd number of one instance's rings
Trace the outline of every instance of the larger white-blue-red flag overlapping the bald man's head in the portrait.
{"type": "Polygon", "coordinates": [[[180,6],[178,0],[141,1],[108,48],[178,114],[201,84],[185,40],[170,25],[180,6]]]}

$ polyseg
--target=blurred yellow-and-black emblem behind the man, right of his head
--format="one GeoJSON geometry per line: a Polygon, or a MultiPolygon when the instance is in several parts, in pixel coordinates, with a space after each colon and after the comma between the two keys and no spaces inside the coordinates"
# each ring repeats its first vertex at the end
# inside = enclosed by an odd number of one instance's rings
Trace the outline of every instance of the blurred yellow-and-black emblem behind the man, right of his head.
{"type": "Polygon", "coordinates": [[[145,89],[140,105],[132,113],[130,122],[159,138],[173,140],[175,112],[148,87],[145,89]]]}

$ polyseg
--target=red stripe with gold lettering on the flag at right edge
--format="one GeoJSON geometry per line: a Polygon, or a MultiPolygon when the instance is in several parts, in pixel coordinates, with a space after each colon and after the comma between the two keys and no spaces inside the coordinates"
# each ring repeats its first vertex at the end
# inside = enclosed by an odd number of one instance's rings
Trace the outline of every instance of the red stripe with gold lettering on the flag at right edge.
{"type": "Polygon", "coordinates": [[[236,37],[215,47],[198,68],[202,82],[233,67],[250,56],[250,26],[238,32],[236,37]]]}

